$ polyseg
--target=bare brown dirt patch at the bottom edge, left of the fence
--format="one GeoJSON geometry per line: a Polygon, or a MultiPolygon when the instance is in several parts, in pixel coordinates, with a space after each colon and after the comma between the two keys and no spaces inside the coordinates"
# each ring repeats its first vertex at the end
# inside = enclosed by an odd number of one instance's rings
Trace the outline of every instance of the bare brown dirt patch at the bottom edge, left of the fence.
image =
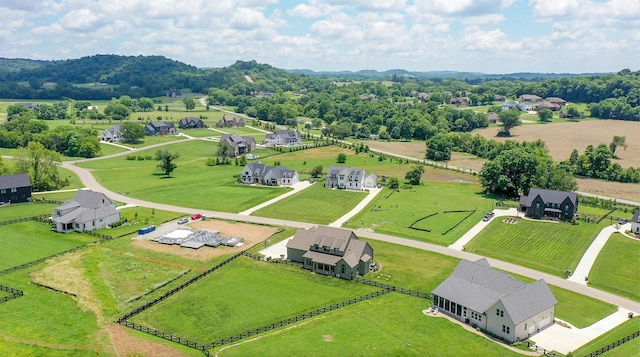
{"type": "Polygon", "coordinates": [[[160,342],[147,341],[136,338],[127,331],[127,328],[110,324],[106,326],[111,339],[111,347],[115,351],[115,355],[120,356],[154,356],[154,357],[173,357],[188,356],[180,351],[171,348],[160,342]]]}

